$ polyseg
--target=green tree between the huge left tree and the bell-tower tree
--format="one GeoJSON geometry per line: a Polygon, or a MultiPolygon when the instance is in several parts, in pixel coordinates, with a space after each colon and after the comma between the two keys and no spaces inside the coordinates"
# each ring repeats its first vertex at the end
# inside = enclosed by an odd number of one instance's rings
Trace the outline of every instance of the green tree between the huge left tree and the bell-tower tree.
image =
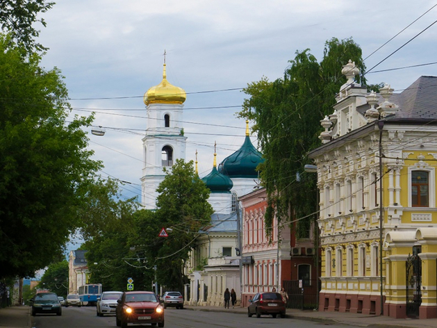
{"type": "Polygon", "coordinates": [[[79,216],[85,239],[82,247],[88,251],[89,282],[102,284],[103,290],[126,290],[131,277],[135,289],[150,286],[144,261],[131,251],[130,240],[136,229],[133,214],[138,208],[135,199],[121,200],[117,181],[112,179],[98,179],[87,198],[88,204],[79,216]]]}

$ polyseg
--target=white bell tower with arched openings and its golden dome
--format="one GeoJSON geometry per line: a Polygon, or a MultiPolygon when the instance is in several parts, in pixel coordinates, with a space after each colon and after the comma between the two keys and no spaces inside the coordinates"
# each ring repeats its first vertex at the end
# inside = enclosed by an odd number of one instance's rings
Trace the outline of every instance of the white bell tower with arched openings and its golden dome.
{"type": "Polygon", "coordinates": [[[146,136],[142,139],[144,167],[142,169],[142,205],[156,208],[159,184],[164,180],[164,167],[172,167],[176,159],[185,160],[186,137],[183,136],[183,102],[186,95],[182,88],[167,81],[165,59],[163,81],[150,88],[144,95],[147,106],[146,136]]]}

